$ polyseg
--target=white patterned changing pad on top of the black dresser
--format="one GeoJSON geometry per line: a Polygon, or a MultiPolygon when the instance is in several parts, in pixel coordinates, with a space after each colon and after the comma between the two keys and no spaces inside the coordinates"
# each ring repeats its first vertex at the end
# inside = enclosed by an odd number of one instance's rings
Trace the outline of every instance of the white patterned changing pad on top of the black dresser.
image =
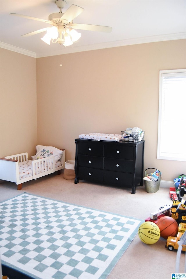
{"type": "Polygon", "coordinates": [[[87,139],[87,140],[107,140],[107,141],[114,141],[118,142],[122,140],[121,135],[117,134],[100,134],[100,133],[90,133],[90,134],[82,134],[79,135],[80,139],[87,139]]]}

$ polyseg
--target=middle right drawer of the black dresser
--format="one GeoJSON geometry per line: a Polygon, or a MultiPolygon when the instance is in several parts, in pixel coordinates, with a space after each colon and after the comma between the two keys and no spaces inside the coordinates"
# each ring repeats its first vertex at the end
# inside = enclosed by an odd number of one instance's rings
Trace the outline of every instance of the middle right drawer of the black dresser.
{"type": "Polygon", "coordinates": [[[132,173],[133,172],[133,161],[132,160],[105,158],[104,159],[104,169],[132,173]]]}

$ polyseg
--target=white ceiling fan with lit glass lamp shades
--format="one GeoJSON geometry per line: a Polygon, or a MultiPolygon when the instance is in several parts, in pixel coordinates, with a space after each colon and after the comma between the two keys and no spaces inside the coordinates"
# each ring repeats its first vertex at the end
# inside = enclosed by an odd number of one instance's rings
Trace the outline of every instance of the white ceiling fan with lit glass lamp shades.
{"type": "Polygon", "coordinates": [[[41,40],[43,40],[47,44],[50,45],[50,42],[52,40],[53,43],[58,42],[58,44],[60,45],[63,44],[64,46],[70,46],[81,37],[81,33],[78,33],[75,29],[108,33],[112,31],[112,27],[109,26],[73,23],[73,19],[80,15],[84,9],[76,5],[71,5],[65,13],[62,13],[62,9],[65,7],[66,1],[57,0],[55,3],[60,9],[60,12],[55,12],[49,15],[48,20],[16,13],[10,14],[18,17],[25,17],[28,19],[42,21],[52,25],[52,27],[46,27],[37,31],[33,31],[31,33],[24,34],[22,35],[22,37],[28,37],[47,31],[44,37],[41,38],[41,40]]]}

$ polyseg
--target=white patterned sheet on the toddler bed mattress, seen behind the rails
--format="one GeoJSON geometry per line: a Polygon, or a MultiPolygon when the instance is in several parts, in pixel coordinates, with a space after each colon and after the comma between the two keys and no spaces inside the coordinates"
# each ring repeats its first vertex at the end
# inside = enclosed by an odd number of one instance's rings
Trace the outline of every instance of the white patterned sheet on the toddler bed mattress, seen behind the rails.
{"type": "MultiPolygon", "coordinates": [[[[32,171],[32,162],[35,160],[29,160],[25,162],[19,162],[19,179],[23,179],[29,176],[32,176],[33,171],[32,171]]],[[[51,163],[52,164],[52,163],[51,163]]],[[[55,162],[55,168],[61,167],[62,164],[60,161],[55,162]]],[[[50,166],[49,166],[50,167],[50,166]]],[[[40,171],[42,172],[42,171],[40,171]]],[[[35,174],[36,174],[36,169],[35,169],[35,174]]]]}

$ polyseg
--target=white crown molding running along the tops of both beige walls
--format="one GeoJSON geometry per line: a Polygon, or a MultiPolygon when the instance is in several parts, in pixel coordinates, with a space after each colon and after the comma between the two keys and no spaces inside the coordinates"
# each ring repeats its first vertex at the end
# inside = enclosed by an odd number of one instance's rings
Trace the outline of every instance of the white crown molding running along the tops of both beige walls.
{"type": "MultiPolygon", "coordinates": [[[[133,44],[145,44],[145,43],[151,43],[151,42],[161,42],[161,41],[171,41],[171,40],[182,40],[186,39],[186,32],[183,33],[175,33],[175,34],[165,34],[165,35],[157,35],[157,36],[148,36],[148,37],[140,37],[140,38],[132,38],[132,39],[126,39],[126,40],[120,40],[120,41],[114,41],[114,42],[105,42],[100,44],[92,44],[92,45],[85,45],[85,46],[71,46],[69,48],[63,49],[63,54],[68,53],[75,53],[75,52],[82,52],[82,51],[90,51],[90,50],[97,50],[97,49],[106,49],[106,48],[112,48],[112,47],[122,47],[127,45],[133,45],[133,44]]],[[[31,56],[34,58],[41,58],[41,57],[47,57],[47,56],[55,56],[58,55],[58,53],[49,53],[48,55],[37,54],[32,51],[28,51],[26,49],[21,49],[19,47],[12,46],[10,44],[6,44],[3,42],[0,42],[0,47],[4,49],[8,49],[11,51],[15,51],[18,53],[22,53],[27,56],[31,56]]]]}

